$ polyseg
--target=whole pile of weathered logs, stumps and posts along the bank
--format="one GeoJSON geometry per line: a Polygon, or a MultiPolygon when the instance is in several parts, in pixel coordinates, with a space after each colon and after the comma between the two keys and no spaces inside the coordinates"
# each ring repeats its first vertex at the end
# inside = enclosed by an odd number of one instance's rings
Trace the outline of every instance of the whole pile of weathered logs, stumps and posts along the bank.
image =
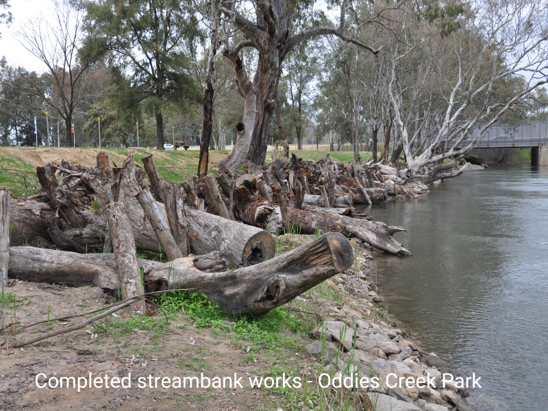
{"type": "Polygon", "coordinates": [[[345,237],[410,255],[393,238],[403,228],[351,207],[386,201],[387,186],[403,182],[382,164],[293,155],[258,175],[246,169],[236,179],[210,174],[177,186],[162,182],[152,155],[142,161],[130,153],[112,167],[99,153],[94,168],[66,160],[38,167],[43,192],[1,208],[8,216],[0,227],[12,224],[0,259],[10,277],[122,289],[138,312],[138,296],[192,288],[236,314],[262,314],[349,268],[345,237]],[[323,236],[275,256],[272,234],[295,230],[323,236]],[[161,251],[170,262],[139,259],[137,250],[161,251]]]}

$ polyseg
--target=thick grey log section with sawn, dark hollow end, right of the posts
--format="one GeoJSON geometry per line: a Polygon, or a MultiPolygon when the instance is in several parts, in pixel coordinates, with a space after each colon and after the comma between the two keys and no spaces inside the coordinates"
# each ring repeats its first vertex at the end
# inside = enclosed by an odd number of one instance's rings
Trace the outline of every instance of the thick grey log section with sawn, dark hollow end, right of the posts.
{"type": "Polygon", "coordinates": [[[219,251],[230,264],[246,266],[273,258],[272,235],[258,227],[187,209],[190,251],[196,255],[219,251]]]}

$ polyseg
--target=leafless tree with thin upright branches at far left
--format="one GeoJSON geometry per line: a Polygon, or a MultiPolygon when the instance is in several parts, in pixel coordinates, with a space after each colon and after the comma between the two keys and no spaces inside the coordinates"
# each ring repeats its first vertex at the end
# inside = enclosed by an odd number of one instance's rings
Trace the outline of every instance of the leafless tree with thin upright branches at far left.
{"type": "Polygon", "coordinates": [[[29,20],[17,32],[21,45],[47,66],[51,89],[43,88],[29,77],[31,90],[65,123],[66,140],[71,141],[75,110],[84,100],[80,87],[84,73],[97,58],[97,47],[84,42],[84,10],[71,0],[53,0],[53,13],[29,20]]]}

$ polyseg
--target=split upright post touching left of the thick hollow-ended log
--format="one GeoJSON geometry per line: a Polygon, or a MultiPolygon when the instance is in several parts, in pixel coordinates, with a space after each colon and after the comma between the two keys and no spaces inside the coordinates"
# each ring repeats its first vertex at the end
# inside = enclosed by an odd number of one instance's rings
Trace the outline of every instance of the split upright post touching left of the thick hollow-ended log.
{"type": "Polygon", "coordinates": [[[164,196],[164,206],[166,208],[169,229],[183,257],[186,257],[190,253],[190,245],[186,230],[186,212],[184,211],[181,190],[175,184],[172,186],[165,184],[162,188],[162,195],[164,196]]]}

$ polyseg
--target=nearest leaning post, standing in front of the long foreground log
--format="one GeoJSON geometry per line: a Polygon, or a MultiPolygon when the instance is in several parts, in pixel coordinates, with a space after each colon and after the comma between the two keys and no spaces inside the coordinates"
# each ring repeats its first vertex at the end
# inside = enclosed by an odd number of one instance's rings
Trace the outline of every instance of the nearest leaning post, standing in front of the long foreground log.
{"type": "MultiPolygon", "coordinates": [[[[137,262],[137,250],[133,236],[132,221],[129,219],[125,203],[113,202],[108,212],[110,237],[114,246],[114,261],[121,286],[123,299],[136,297],[145,293],[145,286],[137,262]]],[[[122,296],[121,296],[122,297],[122,296]]],[[[132,304],[132,308],[145,312],[145,302],[140,300],[132,304]]]]}

